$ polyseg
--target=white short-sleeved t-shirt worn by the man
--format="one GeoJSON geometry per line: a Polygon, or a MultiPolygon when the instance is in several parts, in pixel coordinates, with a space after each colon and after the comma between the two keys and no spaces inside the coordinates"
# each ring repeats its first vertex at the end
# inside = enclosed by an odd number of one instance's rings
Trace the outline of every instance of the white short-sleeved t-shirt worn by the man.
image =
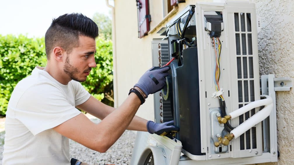
{"type": "Polygon", "coordinates": [[[75,106],[89,97],[81,83],[63,85],[36,67],[11,94],[2,163],[69,165],[69,139],[52,128],[79,115],[75,106]]]}

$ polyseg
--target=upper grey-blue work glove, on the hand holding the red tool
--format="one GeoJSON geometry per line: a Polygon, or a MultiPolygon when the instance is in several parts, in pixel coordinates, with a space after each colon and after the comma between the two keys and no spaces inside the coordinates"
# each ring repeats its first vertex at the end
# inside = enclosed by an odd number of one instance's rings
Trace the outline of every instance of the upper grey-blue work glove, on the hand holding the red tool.
{"type": "Polygon", "coordinates": [[[166,85],[166,76],[168,75],[169,66],[162,68],[156,66],[147,70],[139,79],[134,87],[138,87],[144,92],[146,98],[149,94],[160,91],[166,85]]]}

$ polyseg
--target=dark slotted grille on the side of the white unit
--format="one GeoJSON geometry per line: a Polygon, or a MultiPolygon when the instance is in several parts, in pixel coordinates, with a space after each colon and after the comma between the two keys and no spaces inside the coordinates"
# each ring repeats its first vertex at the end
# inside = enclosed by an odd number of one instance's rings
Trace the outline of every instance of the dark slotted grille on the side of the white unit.
{"type": "MultiPolygon", "coordinates": [[[[251,14],[234,13],[235,37],[236,37],[236,60],[238,80],[239,108],[253,102],[254,77],[253,77],[253,52],[251,14]]],[[[255,114],[255,109],[239,116],[239,124],[255,114]]],[[[252,127],[240,136],[240,150],[256,149],[256,127],[252,127]]]]}

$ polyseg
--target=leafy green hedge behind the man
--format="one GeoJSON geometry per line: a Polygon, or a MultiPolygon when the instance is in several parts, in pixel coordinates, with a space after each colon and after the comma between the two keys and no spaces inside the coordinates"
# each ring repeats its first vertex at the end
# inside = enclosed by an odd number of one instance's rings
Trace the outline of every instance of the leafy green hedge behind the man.
{"type": "MultiPolygon", "coordinates": [[[[96,40],[97,67],[82,85],[94,97],[113,106],[112,43],[96,40]],[[106,99],[106,97],[108,99],[106,99]]],[[[5,115],[15,85],[31,74],[35,66],[46,65],[44,38],[0,35],[0,115],[5,115]]]]}

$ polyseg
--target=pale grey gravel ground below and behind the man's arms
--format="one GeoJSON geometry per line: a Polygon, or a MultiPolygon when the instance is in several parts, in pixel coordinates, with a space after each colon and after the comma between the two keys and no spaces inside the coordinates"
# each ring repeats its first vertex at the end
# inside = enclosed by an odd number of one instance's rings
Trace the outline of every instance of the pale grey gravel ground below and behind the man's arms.
{"type": "MultiPolygon", "coordinates": [[[[99,119],[86,115],[91,121],[98,123],[99,119]]],[[[5,118],[0,119],[5,121],[5,118]]],[[[2,122],[4,123],[4,122],[2,122]]],[[[2,152],[4,144],[5,131],[0,129],[0,165],[2,165],[2,152]]],[[[102,164],[115,164],[115,165],[129,165],[131,161],[133,146],[136,135],[133,131],[126,130],[123,135],[105,152],[100,153],[83,145],[70,140],[70,157],[76,158],[82,162],[91,165],[102,165],[102,164]]]]}

